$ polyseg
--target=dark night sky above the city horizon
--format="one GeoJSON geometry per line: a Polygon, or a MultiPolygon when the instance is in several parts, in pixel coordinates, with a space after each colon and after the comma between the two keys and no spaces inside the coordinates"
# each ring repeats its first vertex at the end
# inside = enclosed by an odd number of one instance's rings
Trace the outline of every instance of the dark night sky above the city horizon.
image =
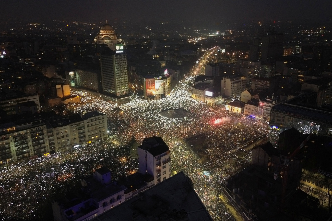
{"type": "Polygon", "coordinates": [[[2,21],[29,22],[332,19],[331,0],[2,0],[0,8],[2,21]]]}

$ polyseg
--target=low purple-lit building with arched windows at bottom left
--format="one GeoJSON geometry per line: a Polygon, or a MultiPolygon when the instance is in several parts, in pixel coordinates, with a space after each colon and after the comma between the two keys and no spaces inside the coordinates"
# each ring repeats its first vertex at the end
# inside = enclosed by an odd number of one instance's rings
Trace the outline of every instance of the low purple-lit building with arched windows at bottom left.
{"type": "Polygon", "coordinates": [[[112,182],[111,171],[106,167],[83,178],[81,185],[82,191],[74,198],[72,193],[68,193],[64,198],[52,202],[55,221],[90,220],[124,202],[127,188],[112,182]]]}

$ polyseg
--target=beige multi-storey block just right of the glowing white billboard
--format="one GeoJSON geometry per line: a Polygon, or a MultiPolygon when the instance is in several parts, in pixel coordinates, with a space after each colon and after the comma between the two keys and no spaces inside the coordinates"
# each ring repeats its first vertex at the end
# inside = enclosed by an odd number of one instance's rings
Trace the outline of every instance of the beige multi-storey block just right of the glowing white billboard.
{"type": "Polygon", "coordinates": [[[247,79],[244,76],[227,76],[221,81],[223,97],[235,97],[241,95],[245,90],[247,79]]]}

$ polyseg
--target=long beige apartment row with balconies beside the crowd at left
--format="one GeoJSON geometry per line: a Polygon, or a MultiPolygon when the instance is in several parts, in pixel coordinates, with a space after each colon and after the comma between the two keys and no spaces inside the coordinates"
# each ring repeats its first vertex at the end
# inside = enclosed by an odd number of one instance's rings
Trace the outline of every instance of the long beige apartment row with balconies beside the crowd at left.
{"type": "Polygon", "coordinates": [[[0,168],[107,138],[107,116],[97,111],[69,117],[22,119],[0,125],[0,168]]]}

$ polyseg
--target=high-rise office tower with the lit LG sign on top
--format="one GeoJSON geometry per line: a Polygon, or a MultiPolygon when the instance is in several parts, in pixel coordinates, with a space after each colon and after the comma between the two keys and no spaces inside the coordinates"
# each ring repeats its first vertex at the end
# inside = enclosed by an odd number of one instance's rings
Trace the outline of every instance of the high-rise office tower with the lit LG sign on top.
{"type": "Polygon", "coordinates": [[[117,96],[128,94],[127,56],[122,44],[116,45],[116,51],[100,54],[100,67],[103,91],[117,96]]]}

